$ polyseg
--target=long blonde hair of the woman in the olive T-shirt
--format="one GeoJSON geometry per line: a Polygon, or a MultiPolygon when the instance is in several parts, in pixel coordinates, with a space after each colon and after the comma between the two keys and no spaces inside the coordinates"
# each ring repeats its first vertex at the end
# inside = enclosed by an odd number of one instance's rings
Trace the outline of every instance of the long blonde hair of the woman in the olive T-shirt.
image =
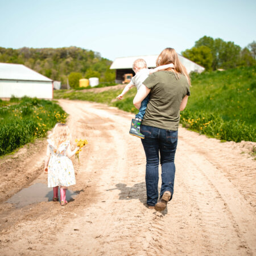
{"type": "Polygon", "coordinates": [[[156,67],[166,65],[166,64],[174,64],[174,68],[169,68],[170,70],[175,73],[176,77],[179,78],[179,74],[183,74],[187,80],[188,84],[191,85],[190,77],[188,75],[187,69],[181,64],[177,52],[174,48],[165,48],[158,56],[156,60],[156,67]]]}

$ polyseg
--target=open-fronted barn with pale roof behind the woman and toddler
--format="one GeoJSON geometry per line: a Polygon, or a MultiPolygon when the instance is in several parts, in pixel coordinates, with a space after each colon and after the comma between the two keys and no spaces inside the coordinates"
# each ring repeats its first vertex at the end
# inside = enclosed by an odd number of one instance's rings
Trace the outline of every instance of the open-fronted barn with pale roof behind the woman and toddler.
{"type": "MultiPolygon", "coordinates": [[[[187,68],[188,73],[190,72],[198,72],[201,73],[204,71],[204,67],[201,67],[200,65],[196,64],[195,62],[178,55],[181,63],[187,68]]],[[[156,65],[156,59],[158,58],[158,55],[146,55],[146,56],[133,56],[133,57],[118,57],[116,58],[110,69],[115,69],[115,82],[122,83],[123,81],[123,75],[127,73],[135,73],[133,72],[133,62],[137,59],[144,59],[147,63],[148,68],[155,68],[156,65]]]]}

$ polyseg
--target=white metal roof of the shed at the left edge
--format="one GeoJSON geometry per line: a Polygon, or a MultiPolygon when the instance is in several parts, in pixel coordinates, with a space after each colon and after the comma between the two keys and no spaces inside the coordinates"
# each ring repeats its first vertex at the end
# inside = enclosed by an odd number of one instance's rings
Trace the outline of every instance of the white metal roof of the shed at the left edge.
{"type": "Polygon", "coordinates": [[[0,80],[47,81],[46,76],[27,68],[22,64],[0,63],[0,80]]]}

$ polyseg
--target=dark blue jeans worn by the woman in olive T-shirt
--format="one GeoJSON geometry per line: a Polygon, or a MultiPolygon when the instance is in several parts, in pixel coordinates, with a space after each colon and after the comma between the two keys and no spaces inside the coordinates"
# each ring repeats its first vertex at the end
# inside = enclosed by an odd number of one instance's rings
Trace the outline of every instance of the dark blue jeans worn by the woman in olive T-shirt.
{"type": "Polygon", "coordinates": [[[163,196],[164,191],[170,191],[172,199],[172,195],[174,193],[174,157],[177,147],[178,132],[141,125],[141,133],[145,136],[141,141],[147,159],[147,204],[155,205],[158,201],[159,152],[160,164],[162,166],[162,186],[160,190],[160,197],[163,196]]]}

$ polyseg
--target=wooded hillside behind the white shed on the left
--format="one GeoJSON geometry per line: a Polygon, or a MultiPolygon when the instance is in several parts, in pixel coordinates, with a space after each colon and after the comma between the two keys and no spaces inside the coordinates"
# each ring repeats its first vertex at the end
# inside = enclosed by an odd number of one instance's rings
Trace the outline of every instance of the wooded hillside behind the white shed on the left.
{"type": "MultiPolygon", "coordinates": [[[[112,61],[100,53],[79,47],[28,48],[0,47],[0,62],[23,64],[55,81],[67,84],[69,76],[98,77],[101,82],[113,82],[115,72],[110,70],[112,61]]],[[[78,86],[76,82],[73,87],[78,86]]]]}

